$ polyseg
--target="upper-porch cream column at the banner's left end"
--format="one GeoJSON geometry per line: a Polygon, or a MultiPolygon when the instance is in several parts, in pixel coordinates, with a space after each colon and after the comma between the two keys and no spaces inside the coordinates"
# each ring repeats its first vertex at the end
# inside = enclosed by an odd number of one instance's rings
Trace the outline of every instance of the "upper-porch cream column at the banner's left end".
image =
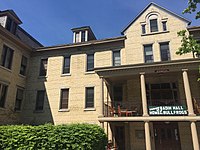
{"type": "Polygon", "coordinates": [[[141,95],[142,95],[142,109],[143,116],[149,116],[147,111],[147,97],[146,97],[146,86],[145,86],[145,78],[144,72],[140,73],[140,84],[141,84],[141,95]]]}

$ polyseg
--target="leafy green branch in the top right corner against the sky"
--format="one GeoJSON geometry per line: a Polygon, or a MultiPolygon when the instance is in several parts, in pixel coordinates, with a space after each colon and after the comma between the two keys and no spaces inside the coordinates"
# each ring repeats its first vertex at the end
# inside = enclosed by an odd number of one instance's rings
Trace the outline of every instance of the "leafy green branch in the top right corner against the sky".
{"type": "MultiPolygon", "coordinates": [[[[200,0],[188,0],[188,7],[183,11],[184,13],[192,13],[197,10],[197,5],[200,3],[200,0]]],[[[200,18],[200,11],[196,14],[196,19],[200,18]]]]}

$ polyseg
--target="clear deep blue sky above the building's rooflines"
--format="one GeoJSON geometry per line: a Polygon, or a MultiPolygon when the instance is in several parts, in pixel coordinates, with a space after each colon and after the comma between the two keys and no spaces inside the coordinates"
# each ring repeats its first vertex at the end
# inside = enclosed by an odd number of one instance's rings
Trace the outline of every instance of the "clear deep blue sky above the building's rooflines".
{"type": "Polygon", "coordinates": [[[72,28],[90,26],[97,39],[121,36],[121,31],[150,2],[192,21],[182,14],[188,0],[0,0],[0,10],[13,9],[20,26],[44,46],[72,43],[72,28]]]}

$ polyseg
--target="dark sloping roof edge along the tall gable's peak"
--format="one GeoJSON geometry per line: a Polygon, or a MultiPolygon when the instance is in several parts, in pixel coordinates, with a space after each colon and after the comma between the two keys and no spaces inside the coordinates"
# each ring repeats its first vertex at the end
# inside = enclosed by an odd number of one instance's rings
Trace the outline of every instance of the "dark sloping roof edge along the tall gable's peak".
{"type": "Polygon", "coordinates": [[[178,14],[176,14],[176,13],[174,13],[174,12],[172,12],[172,11],[170,11],[170,10],[168,10],[168,9],[166,9],[166,8],[164,8],[164,7],[162,7],[162,6],[159,6],[158,4],[156,4],[156,3],[153,3],[153,2],[151,2],[149,5],[147,5],[123,30],[122,30],[122,32],[121,32],[121,34],[124,34],[124,32],[150,7],[150,6],[156,6],[156,7],[158,7],[159,9],[162,9],[162,10],[164,10],[164,11],[166,11],[167,13],[169,13],[169,14],[171,14],[171,15],[173,15],[173,16],[175,16],[175,17],[177,17],[177,18],[179,18],[179,19],[181,19],[181,20],[183,20],[183,21],[185,21],[185,22],[187,22],[188,24],[190,24],[191,23],[191,21],[190,20],[188,20],[188,19],[186,19],[186,18],[184,18],[184,17],[182,17],[182,16],[180,16],[180,15],[178,15],[178,14]]]}

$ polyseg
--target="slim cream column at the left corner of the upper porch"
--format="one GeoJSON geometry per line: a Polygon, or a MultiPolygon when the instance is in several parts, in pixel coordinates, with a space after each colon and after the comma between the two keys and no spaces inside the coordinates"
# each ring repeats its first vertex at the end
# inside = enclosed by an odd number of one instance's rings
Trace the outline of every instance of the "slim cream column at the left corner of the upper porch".
{"type": "Polygon", "coordinates": [[[99,117],[103,117],[104,116],[104,83],[103,83],[103,78],[100,78],[100,103],[99,103],[99,117]]]}

